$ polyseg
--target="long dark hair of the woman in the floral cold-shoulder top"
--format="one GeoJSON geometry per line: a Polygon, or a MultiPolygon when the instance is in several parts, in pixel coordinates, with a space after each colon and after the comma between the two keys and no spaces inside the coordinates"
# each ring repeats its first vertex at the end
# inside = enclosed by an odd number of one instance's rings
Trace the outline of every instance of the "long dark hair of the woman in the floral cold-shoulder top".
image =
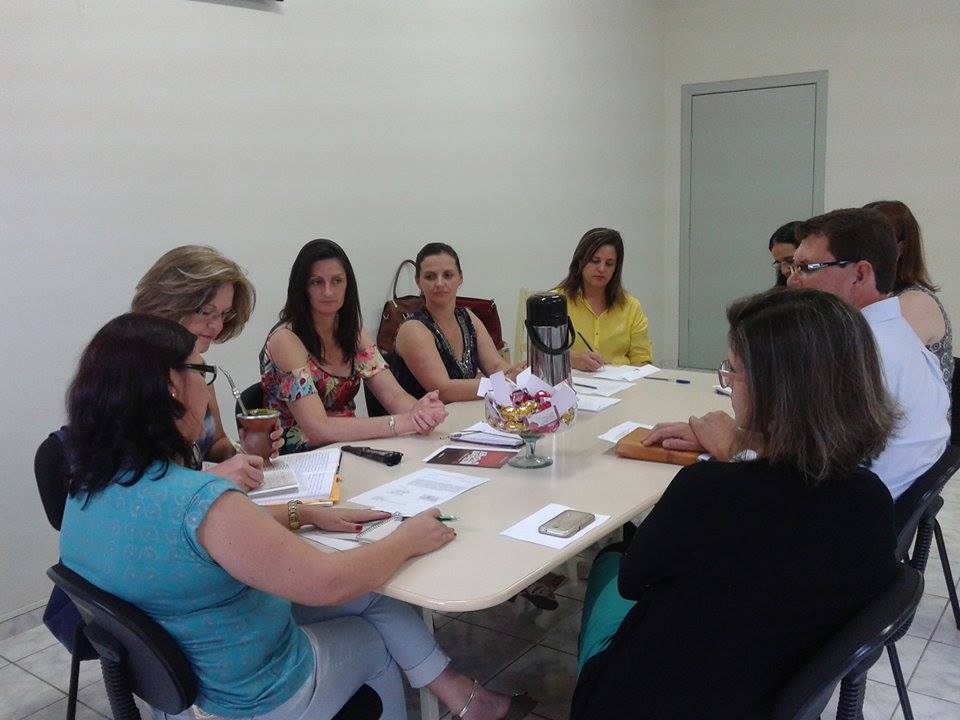
{"type": "Polygon", "coordinates": [[[353,274],[350,259],[333,240],[311,240],[297,254],[290,268],[290,281],[287,283],[287,302],[280,311],[280,323],[290,323],[290,329],[300,338],[307,351],[321,363],[328,362],[323,340],[313,327],[313,316],[310,313],[310,297],[307,293],[307,284],[310,282],[310,271],[315,262],[320,260],[337,260],[343,266],[347,276],[347,289],[343,298],[343,306],[337,311],[334,324],[334,337],[343,361],[353,359],[359,349],[360,328],[363,327],[363,318],[360,315],[360,293],[357,291],[357,278],[353,274]]]}

